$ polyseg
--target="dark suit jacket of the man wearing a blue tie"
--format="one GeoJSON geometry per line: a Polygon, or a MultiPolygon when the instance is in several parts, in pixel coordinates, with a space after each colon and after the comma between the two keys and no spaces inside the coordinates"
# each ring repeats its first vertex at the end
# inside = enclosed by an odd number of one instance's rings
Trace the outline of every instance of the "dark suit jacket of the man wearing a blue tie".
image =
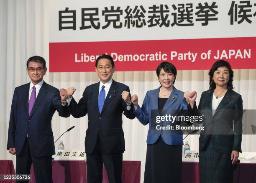
{"type": "Polygon", "coordinates": [[[100,82],[87,86],[78,104],[72,98],[68,109],[73,117],[79,118],[88,114],[88,129],[85,136],[85,151],[93,152],[97,137],[100,136],[101,150],[104,154],[121,153],[125,151],[122,114],[134,119],[133,106],[128,111],[122,99],[122,92],[129,91],[129,87],[113,80],[102,112],[99,113],[98,97],[100,82]]]}

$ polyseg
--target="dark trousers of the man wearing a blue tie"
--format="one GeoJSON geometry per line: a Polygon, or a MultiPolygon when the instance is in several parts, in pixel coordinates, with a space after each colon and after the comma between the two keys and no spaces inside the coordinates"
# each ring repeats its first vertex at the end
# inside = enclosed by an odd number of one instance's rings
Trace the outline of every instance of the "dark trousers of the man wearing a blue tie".
{"type": "Polygon", "coordinates": [[[92,154],[86,154],[87,183],[102,183],[103,163],[105,165],[109,183],[122,183],[123,153],[105,155],[100,149],[100,137],[97,137],[92,154]]]}

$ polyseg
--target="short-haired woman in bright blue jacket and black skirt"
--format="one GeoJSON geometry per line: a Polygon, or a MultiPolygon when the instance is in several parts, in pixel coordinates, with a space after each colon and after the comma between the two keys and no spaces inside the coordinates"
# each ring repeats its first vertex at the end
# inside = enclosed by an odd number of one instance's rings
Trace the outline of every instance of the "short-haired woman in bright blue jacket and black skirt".
{"type": "Polygon", "coordinates": [[[188,104],[183,97],[184,92],[173,86],[177,76],[177,69],[173,64],[162,62],[156,69],[156,75],[161,86],[147,91],[142,107],[138,105],[137,95],[131,98],[137,119],[143,125],[149,123],[144,183],[180,183],[182,134],[173,135],[164,130],[157,132],[156,124],[152,124],[154,119],[151,119],[151,112],[159,110],[159,114],[165,116],[167,109],[187,109],[188,104]]]}

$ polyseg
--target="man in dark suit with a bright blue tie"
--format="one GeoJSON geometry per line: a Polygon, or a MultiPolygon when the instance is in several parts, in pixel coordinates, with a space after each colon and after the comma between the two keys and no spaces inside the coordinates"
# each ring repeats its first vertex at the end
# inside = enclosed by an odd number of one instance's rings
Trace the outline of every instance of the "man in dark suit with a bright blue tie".
{"type": "MultiPolygon", "coordinates": [[[[72,95],[75,89],[61,89],[68,96],[67,108],[73,117],[88,114],[85,137],[87,156],[87,182],[102,183],[102,163],[110,183],[121,183],[123,152],[125,151],[122,114],[134,119],[129,87],[112,79],[115,71],[113,58],[102,55],[95,64],[100,82],[87,86],[77,103],[72,95]]],[[[61,97],[62,102],[66,100],[61,97]]]]}

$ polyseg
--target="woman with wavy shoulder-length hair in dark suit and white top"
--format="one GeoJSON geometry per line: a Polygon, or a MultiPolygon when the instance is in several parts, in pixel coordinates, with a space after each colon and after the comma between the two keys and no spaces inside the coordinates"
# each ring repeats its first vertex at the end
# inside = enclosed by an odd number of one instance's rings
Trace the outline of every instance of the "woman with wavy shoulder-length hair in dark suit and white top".
{"type": "MultiPolygon", "coordinates": [[[[233,70],[227,61],[216,61],[209,76],[210,88],[202,93],[198,106],[205,114],[205,132],[199,137],[200,183],[232,183],[233,164],[242,152],[243,101],[233,91],[233,70]]],[[[184,97],[197,108],[195,91],[186,91],[184,97]]]]}

